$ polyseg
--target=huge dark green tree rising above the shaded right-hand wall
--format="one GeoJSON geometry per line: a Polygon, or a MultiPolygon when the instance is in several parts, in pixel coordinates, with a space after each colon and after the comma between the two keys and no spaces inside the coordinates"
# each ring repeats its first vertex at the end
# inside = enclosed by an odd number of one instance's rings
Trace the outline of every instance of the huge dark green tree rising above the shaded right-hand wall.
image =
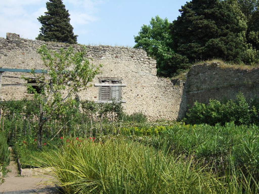
{"type": "Polygon", "coordinates": [[[181,16],[171,25],[178,54],[190,62],[211,58],[244,61],[249,50],[247,24],[237,1],[192,0],[179,11],[181,16]]]}

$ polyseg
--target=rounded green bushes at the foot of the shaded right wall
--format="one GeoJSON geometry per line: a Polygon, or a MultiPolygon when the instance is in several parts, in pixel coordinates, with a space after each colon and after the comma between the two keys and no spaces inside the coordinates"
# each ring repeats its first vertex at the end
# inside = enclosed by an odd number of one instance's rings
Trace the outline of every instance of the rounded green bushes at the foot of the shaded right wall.
{"type": "Polygon", "coordinates": [[[220,102],[211,99],[206,105],[195,102],[186,113],[185,121],[191,124],[207,123],[215,125],[233,121],[235,124],[259,124],[259,99],[250,102],[244,98],[242,93],[236,96],[236,100],[220,102]]]}

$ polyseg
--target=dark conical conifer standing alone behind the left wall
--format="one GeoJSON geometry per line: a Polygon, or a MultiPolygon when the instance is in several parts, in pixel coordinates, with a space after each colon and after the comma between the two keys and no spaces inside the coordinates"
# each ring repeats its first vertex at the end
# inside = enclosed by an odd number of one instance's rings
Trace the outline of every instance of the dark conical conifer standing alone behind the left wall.
{"type": "Polygon", "coordinates": [[[70,14],[62,0],[49,0],[46,7],[48,11],[38,18],[42,27],[36,39],[76,44],[77,35],[74,35],[74,28],[70,24],[70,14]]]}

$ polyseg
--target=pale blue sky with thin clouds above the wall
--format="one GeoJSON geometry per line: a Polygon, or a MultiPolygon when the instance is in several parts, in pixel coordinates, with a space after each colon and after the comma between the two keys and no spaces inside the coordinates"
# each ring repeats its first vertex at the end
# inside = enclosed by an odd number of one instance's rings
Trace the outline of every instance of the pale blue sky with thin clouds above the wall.
{"type": "MultiPolygon", "coordinates": [[[[0,37],[6,32],[35,39],[47,0],[0,0],[0,37]]],[[[159,15],[173,21],[186,0],[63,0],[69,10],[77,42],[91,45],[134,46],[143,24],[159,15]]]]}

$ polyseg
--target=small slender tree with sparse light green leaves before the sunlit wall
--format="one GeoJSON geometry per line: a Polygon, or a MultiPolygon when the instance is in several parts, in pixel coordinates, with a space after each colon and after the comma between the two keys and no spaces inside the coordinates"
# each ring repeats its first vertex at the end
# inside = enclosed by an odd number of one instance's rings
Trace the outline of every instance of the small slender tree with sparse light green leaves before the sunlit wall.
{"type": "Polygon", "coordinates": [[[73,47],[60,49],[59,52],[47,49],[44,45],[38,50],[47,73],[32,72],[41,91],[29,85],[34,93],[34,99],[39,103],[38,147],[42,146],[42,131],[44,124],[51,118],[59,118],[65,114],[71,104],[75,103],[76,93],[86,90],[89,82],[100,73],[101,65],[90,64],[85,57],[85,48],[80,52],[73,47]]]}

